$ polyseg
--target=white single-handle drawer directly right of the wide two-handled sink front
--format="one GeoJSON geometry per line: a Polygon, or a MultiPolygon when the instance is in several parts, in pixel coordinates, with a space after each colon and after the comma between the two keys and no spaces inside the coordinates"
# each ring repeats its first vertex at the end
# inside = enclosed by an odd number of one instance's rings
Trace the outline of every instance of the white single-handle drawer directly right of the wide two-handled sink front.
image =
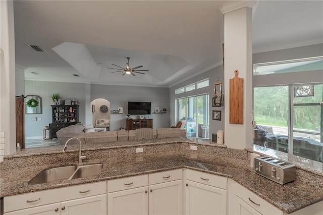
{"type": "Polygon", "coordinates": [[[116,192],[148,185],[148,175],[132,176],[107,181],[107,192],[116,192]]]}

